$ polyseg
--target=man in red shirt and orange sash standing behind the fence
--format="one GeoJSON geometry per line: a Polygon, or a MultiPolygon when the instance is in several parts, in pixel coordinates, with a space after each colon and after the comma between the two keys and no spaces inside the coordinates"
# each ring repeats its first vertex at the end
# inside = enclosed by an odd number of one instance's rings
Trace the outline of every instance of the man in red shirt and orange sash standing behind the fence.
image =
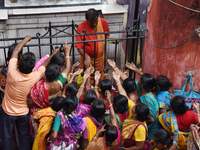
{"type": "MultiPolygon", "coordinates": [[[[89,9],[86,14],[86,20],[79,24],[77,31],[79,33],[83,33],[83,30],[86,33],[96,33],[96,32],[108,32],[108,23],[105,19],[98,17],[98,12],[95,9],[89,9]]],[[[77,33],[78,34],[78,33],[77,33]]],[[[85,36],[85,40],[100,40],[105,39],[105,36],[109,36],[109,34],[99,34],[99,35],[87,35],[85,36]]],[[[83,36],[76,36],[76,41],[83,41],[83,36]]],[[[90,63],[94,66],[94,42],[85,43],[85,62],[84,62],[84,44],[77,43],[75,47],[78,49],[81,54],[81,68],[83,68],[84,64],[88,66],[90,63]]],[[[104,68],[104,56],[105,56],[105,42],[96,42],[96,51],[95,51],[95,70],[101,72],[103,77],[103,68],[104,68]]]]}

